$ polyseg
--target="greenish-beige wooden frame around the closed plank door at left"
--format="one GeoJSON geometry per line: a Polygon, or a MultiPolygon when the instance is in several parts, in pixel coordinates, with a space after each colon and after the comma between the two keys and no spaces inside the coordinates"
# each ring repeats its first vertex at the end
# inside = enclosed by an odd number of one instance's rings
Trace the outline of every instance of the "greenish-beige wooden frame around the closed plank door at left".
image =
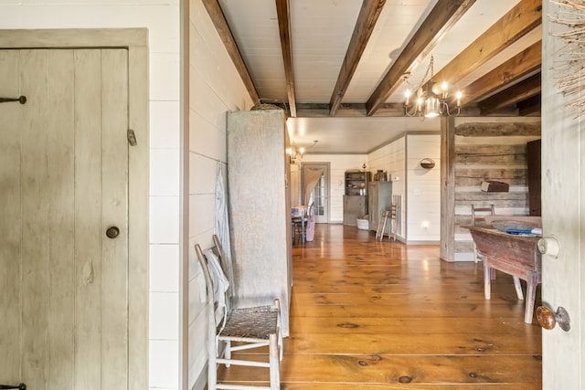
{"type": "Polygon", "coordinates": [[[128,50],[128,383],[148,387],[149,101],[146,28],[2,30],[1,49],[109,48],[128,50]]]}

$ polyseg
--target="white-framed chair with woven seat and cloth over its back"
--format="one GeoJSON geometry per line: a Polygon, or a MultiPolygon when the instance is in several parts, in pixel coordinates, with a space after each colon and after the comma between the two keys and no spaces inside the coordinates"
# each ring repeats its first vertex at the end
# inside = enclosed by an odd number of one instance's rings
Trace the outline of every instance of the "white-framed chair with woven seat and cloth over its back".
{"type": "MultiPolygon", "coordinates": [[[[216,389],[270,389],[279,390],[280,361],[282,360],[282,326],[280,301],[274,300],[273,305],[239,308],[231,307],[231,287],[222,283],[226,269],[225,254],[219,239],[213,236],[214,248],[203,251],[198,244],[195,246],[197,258],[207,285],[208,309],[208,367],[207,388],[216,389]],[[214,293],[214,287],[222,287],[214,293]],[[222,299],[222,295],[223,298],[222,299]],[[222,307],[225,304],[225,307],[222,307]],[[221,318],[217,320],[217,318],[221,318]],[[234,359],[232,352],[268,346],[268,362],[234,359]],[[270,386],[262,385],[229,385],[218,383],[218,364],[245,365],[264,367],[270,371],[270,386]]],[[[244,355],[245,356],[245,355],[244,355]]]]}

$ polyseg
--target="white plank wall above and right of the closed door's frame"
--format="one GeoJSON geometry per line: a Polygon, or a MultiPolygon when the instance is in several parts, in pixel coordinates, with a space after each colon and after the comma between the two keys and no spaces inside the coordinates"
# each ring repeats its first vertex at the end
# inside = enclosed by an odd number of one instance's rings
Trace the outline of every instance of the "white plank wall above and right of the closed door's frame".
{"type": "MultiPolygon", "coordinates": [[[[0,28],[147,27],[150,48],[150,378],[178,386],[179,0],[0,0],[0,28]]],[[[140,142],[140,140],[139,140],[140,142]]]]}

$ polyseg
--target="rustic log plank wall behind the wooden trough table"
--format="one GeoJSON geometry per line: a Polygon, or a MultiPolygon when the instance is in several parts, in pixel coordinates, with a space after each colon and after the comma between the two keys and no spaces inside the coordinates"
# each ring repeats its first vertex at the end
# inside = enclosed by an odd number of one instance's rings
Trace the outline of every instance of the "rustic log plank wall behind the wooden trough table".
{"type": "Polygon", "coordinates": [[[471,206],[495,206],[496,215],[527,215],[527,142],[540,138],[540,121],[465,122],[455,127],[454,260],[473,260],[471,206]],[[481,191],[485,179],[509,192],[481,191]]]}

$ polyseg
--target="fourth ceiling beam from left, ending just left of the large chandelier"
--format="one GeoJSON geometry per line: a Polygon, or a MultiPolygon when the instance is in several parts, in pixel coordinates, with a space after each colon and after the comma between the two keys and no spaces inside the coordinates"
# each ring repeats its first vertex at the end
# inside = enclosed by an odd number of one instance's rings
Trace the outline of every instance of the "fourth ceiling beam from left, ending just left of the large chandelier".
{"type": "Polygon", "coordinates": [[[431,13],[422,22],[409,43],[393,61],[392,66],[380,81],[376,90],[366,102],[367,115],[372,116],[403,82],[418,58],[423,58],[439,42],[463,14],[475,3],[475,0],[439,0],[431,13]]]}

